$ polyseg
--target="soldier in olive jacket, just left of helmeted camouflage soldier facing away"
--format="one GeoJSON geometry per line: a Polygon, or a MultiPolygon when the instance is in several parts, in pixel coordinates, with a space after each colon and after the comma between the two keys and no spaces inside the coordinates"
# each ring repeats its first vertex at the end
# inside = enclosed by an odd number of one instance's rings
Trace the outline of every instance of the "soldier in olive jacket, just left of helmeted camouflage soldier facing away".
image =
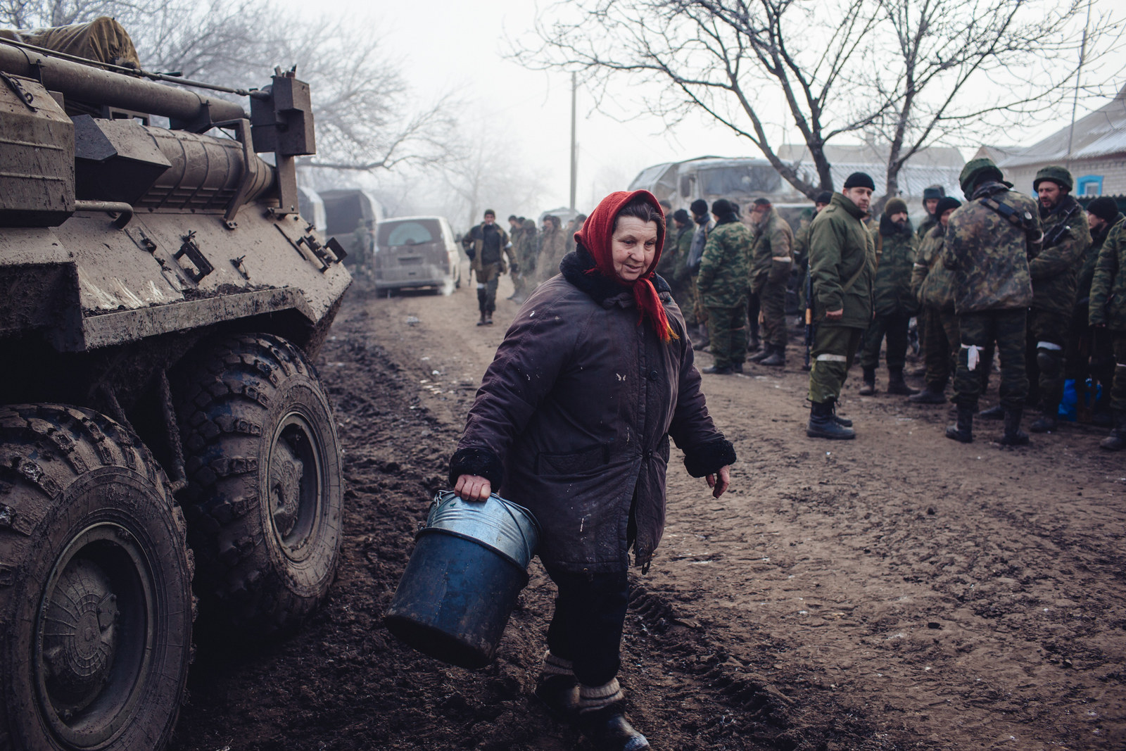
{"type": "Polygon", "coordinates": [[[959,206],[957,198],[939,199],[935,208],[938,224],[923,235],[911,271],[911,293],[921,305],[918,318],[927,366],[927,387],[909,397],[915,404],[946,404],[946,384],[957,367],[960,341],[954,314],[954,276],[942,265],[942,248],[950,215],[959,206]]]}

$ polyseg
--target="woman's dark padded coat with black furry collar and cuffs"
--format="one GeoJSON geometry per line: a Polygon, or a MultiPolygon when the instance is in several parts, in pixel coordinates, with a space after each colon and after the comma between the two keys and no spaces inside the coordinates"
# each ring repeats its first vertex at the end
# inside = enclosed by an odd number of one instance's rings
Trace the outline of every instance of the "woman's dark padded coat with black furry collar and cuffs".
{"type": "Polygon", "coordinates": [[[637,323],[633,294],[598,274],[582,249],[520,306],[485,372],[450,461],[539,521],[544,563],[566,571],[628,567],[634,507],[638,565],[664,529],[669,438],[692,476],[731,464],[708,415],[685,322],[654,286],[679,339],[637,323]]]}

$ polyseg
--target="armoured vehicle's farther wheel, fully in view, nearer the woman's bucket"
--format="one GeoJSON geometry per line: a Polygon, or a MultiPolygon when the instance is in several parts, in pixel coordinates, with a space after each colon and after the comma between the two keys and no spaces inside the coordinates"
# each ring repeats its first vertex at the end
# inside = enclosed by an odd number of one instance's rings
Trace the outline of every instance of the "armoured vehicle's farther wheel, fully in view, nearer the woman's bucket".
{"type": "Polygon", "coordinates": [[[204,617],[244,635],[296,625],[328,592],[340,552],[329,400],[301,350],[278,337],[226,338],[193,359],[176,401],[204,617]]]}

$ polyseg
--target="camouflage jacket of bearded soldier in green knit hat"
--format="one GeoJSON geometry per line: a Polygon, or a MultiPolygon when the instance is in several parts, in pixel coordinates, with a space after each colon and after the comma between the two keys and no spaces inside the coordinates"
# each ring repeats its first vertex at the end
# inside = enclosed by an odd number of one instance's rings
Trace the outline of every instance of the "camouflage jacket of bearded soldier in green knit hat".
{"type": "Polygon", "coordinates": [[[1047,214],[1042,213],[1040,220],[1045,243],[1060,230],[1063,233],[1058,234],[1056,242],[1046,244],[1028,261],[1028,271],[1033,276],[1033,307],[1071,315],[1075,306],[1075,277],[1083,262],[1083,253],[1091,244],[1087,212],[1071,195],[1065,195],[1055,208],[1047,214]],[[1064,220],[1072,207],[1071,217],[1064,220]]]}

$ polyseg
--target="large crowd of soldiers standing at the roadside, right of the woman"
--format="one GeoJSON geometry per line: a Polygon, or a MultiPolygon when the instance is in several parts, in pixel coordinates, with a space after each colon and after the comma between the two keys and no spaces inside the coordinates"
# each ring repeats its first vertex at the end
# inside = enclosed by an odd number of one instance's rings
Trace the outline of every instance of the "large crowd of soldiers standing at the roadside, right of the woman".
{"type": "Polygon", "coordinates": [[[955,440],[973,440],[977,414],[1004,421],[1002,445],[1027,444],[1026,409],[1039,410],[1031,431],[1055,430],[1070,378],[1084,417],[1111,427],[1100,445],[1126,447],[1126,224],[1117,204],[1097,198],[1084,211],[1058,166],[1037,173],[1036,199],[1012,190],[989,159],[967,163],[959,182],[965,202],[940,186],[924,191],[918,230],[900,198],[869,216],[875,185],[863,172],[817,196],[796,234],[766,198],[753,203],[749,224],[729,200],[711,212],[692,204],[695,230],[687,212],[673,214],[674,253],[662,266],[694,339],[709,339],[714,364],[704,372],[742,373],[748,342],[757,348],[748,327],[756,322],[762,347],[749,359],[784,365],[786,285],[797,279],[812,328],[810,437],[856,436],[837,414],[841,387],[859,359],[859,393],[876,393],[884,351],[887,393],[911,402],[946,404],[953,377],[957,421],[946,435],[955,440]],[[926,364],[921,392],[904,379],[912,319],[926,364]],[[1000,404],[978,414],[994,354],[1000,404]]]}

